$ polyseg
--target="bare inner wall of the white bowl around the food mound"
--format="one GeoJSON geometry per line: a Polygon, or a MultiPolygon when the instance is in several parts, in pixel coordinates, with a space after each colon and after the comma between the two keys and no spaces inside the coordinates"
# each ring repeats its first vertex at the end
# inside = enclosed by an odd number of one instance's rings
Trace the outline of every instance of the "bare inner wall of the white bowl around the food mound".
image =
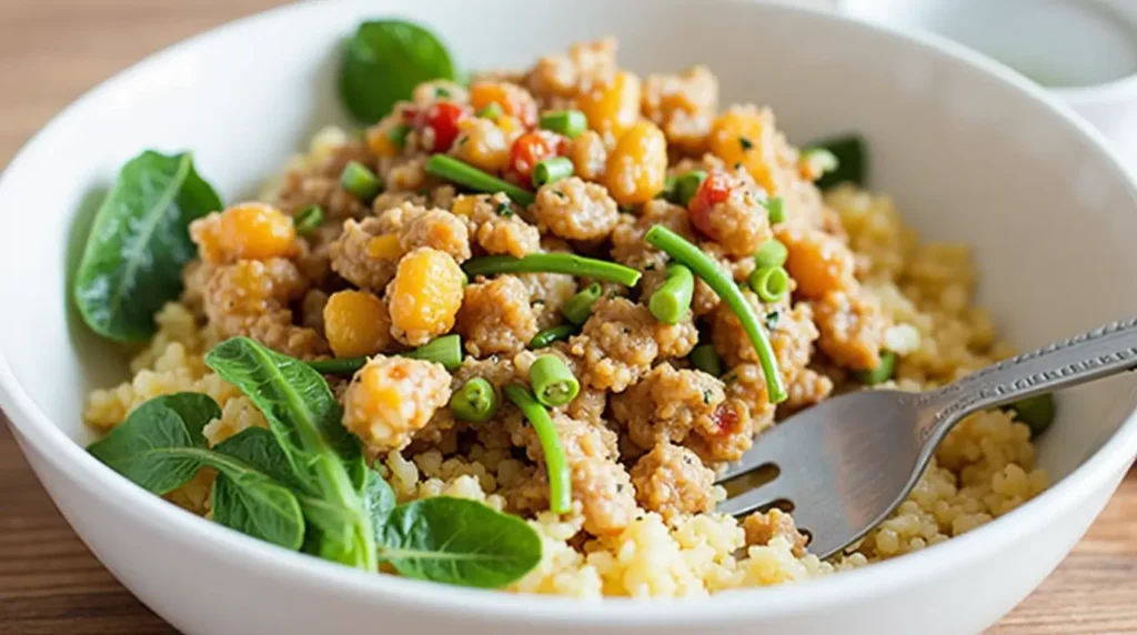
{"type": "MultiPolygon", "coordinates": [[[[335,53],[370,16],[425,23],[467,69],[525,67],[605,34],[621,40],[621,60],[637,72],[706,64],[723,103],[771,106],[791,141],[863,133],[873,189],[890,192],[926,239],[974,249],[979,301],[1015,346],[1137,314],[1132,187],[1026,82],[873,27],[742,2],[317,2],[140,64],[69,108],[3,175],[0,352],[67,436],[92,437],[82,424],[86,391],[126,376],[122,352],[78,320],[66,284],[117,168],[143,149],[188,149],[225,200],[254,192],[315,129],[345,123],[335,53]]],[[[1135,404],[1124,378],[1064,393],[1041,463],[1055,479],[1069,474],[1135,404]]]]}

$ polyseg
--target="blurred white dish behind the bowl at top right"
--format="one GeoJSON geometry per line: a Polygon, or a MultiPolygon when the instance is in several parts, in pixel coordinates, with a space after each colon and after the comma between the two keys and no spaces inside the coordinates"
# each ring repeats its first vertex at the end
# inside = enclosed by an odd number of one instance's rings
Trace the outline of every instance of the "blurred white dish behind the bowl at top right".
{"type": "Polygon", "coordinates": [[[1027,75],[1137,168],[1137,0],[838,0],[849,15],[955,40],[1027,75]]]}

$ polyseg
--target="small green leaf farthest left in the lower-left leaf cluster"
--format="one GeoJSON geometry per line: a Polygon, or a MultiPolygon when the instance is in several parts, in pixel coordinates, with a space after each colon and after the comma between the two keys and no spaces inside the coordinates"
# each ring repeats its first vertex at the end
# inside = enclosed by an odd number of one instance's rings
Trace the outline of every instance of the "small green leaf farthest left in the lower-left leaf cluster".
{"type": "Polygon", "coordinates": [[[221,408],[208,395],[156,396],[86,450],[140,487],[163,495],[189,483],[201,468],[201,458],[184,450],[205,450],[201,428],[219,417],[221,408]]]}

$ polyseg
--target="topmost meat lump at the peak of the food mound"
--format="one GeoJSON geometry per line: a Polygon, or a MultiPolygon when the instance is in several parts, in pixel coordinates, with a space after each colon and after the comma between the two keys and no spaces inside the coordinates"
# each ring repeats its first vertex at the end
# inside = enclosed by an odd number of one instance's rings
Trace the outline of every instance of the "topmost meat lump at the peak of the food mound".
{"type": "Polygon", "coordinates": [[[543,56],[525,76],[525,86],[542,106],[562,105],[568,98],[603,83],[616,72],[616,41],[605,37],[580,42],[568,55],[543,56]]]}

